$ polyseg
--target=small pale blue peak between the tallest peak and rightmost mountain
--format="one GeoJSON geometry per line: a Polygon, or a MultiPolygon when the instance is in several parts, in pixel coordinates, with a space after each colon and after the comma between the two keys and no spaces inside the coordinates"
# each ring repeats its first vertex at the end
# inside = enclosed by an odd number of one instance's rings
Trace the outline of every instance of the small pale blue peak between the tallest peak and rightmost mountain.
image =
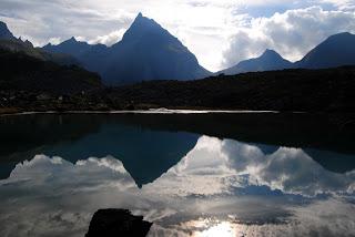
{"type": "Polygon", "coordinates": [[[261,56],[242,61],[230,69],[219,72],[217,74],[224,73],[226,75],[233,75],[244,72],[274,71],[291,68],[293,68],[292,62],[283,59],[273,50],[266,50],[261,56]]]}

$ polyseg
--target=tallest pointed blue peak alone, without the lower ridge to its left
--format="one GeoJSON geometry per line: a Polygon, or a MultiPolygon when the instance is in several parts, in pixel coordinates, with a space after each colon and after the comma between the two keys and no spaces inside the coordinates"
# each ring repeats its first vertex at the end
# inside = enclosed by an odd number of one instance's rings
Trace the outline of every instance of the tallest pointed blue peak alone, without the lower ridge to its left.
{"type": "Polygon", "coordinates": [[[141,13],[111,50],[103,76],[109,81],[193,80],[209,75],[186,47],[141,13]]]}

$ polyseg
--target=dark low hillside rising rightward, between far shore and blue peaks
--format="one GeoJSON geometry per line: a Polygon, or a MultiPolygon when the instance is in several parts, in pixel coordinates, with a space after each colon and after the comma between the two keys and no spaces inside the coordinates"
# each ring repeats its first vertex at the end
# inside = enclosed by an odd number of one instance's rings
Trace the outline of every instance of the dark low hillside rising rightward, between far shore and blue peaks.
{"type": "Polygon", "coordinates": [[[258,111],[355,112],[355,68],[283,70],[108,89],[116,104],[258,111]]]}

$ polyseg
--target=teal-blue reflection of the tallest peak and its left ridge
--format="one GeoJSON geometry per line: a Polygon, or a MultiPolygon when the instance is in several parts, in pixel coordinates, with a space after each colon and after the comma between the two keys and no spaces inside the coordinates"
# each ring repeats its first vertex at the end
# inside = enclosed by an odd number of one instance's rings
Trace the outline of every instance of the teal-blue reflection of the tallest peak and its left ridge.
{"type": "Polygon", "coordinates": [[[165,132],[126,125],[114,120],[102,123],[100,131],[74,143],[65,143],[44,151],[75,163],[88,157],[112,155],[141,186],[153,182],[174,166],[196,144],[199,135],[165,132]]]}

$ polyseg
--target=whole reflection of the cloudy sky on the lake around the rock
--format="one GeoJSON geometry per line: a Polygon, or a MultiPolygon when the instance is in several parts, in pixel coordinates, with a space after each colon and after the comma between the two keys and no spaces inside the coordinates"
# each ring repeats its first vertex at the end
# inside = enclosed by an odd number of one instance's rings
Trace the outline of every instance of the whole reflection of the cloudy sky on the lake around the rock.
{"type": "Polygon", "coordinates": [[[206,136],[141,189],[113,157],[71,164],[38,155],[0,181],[0,236],[83,236],[92,214],[108,207],[153,220],[151,236],[209,236],[221,228],[346,236],[355,225],[354,204],[345,199],[354,197],[354,179],[355,172],[331,173],[302,150],[265,155],[206,136]]]}

